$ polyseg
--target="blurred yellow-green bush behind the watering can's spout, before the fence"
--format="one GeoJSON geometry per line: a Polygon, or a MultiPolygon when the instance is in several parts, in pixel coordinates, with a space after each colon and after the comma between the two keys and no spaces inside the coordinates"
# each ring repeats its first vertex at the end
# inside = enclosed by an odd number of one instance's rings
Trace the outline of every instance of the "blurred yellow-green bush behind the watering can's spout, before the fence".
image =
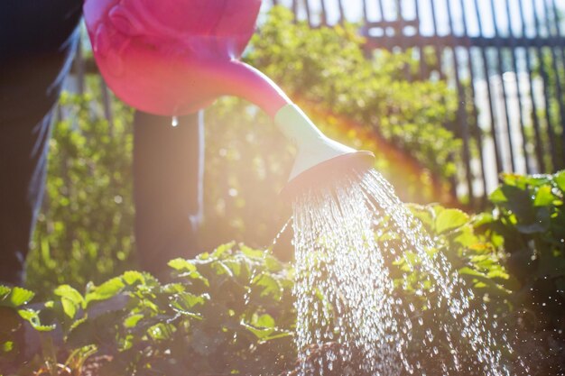
{"type": "MultiPolygon", "coordinates": [[[[364,49],[354,24],[312,30],[295,23],[285,8],[274,8],[269,22],[256,32],[246,60],[279,83],[299,104],[316,113],[337,116],[352,129],[375,133],[374,149],[383,143],[408,153],[422,170],[446,179],[456,173],[460,142],[440,124],[455,118],[457,97],[443,81],[418,77],[412,51],[391,53],[364,49]],[[406,74],[406,73],[409,74],[406,74]],[[310,109],[310,108],[309,108],[310,109]]],[[[320,125],[331,125],[320,119],[320,125]]],[[[328,130],[331,133],[331,130],[328,130]]],[[[363,137],[339,134],[357,148],[363,137]],[[348,136],[348,137],[347,137],[348,136]]],[[[394,179],[394,160],[381,154],[380,170],[394,179]]],[[[402,192],[411,200],[430,199],[419,189],[402,192]],[[424,195],[420,196],[419,195],[424,195]]]]}

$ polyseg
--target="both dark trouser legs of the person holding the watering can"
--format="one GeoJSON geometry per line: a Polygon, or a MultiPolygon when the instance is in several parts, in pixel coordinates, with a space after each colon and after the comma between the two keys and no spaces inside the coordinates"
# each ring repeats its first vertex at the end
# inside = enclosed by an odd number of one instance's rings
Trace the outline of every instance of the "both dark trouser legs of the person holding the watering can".
{"type": "MultiPolygon", "coordinates": [[[[39,208],[53,107],[76,50],[81,0],[0,2],[0,281],[22,282],[39,208]]],[[[134,126],[136,237],[142,267],[158,273],[194,255],[201,208],[197,115],[138,113],[134,126]]]]}

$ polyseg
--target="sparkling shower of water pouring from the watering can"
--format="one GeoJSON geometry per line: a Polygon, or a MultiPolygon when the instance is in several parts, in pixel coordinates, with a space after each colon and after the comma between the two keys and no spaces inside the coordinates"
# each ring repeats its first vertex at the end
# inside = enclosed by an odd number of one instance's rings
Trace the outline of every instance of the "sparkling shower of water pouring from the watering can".
{"type": "Polygon", "coordinates": [[[293,213],[301,375],[510,374],[501,328],[378,172],[305,191],[293,213]]]}

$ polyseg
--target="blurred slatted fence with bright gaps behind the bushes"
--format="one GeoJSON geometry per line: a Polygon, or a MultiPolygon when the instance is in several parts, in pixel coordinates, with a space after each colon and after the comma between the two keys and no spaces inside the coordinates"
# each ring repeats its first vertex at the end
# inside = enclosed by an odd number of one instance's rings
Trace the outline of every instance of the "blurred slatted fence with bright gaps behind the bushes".
{"type": "MultiPolygon", "coordinates": [[[[565,168],[565,2],[273,0],[312,27],[358,22],[367,48],[412,50],[420,73],[458,96],[455,187],[477,206],[498,173],[565,168]],[[428,59],[430,57],[433,59],[428,59]]],[[[408,73],[407,73],[408,74],[408,73]]]]}

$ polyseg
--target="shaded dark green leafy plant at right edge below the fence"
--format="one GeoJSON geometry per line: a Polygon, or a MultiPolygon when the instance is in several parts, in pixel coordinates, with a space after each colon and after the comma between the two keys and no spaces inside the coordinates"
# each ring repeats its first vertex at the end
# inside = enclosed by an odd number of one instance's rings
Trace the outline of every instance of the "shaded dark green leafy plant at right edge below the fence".
{"type": "Polygon", "coordinates": [[[495,210],[481,216],[493,244],[505,250],[519,282],[514,300],[538,330],[565,330],[565,171],[504,174],[490,196],[495,210]]]}

